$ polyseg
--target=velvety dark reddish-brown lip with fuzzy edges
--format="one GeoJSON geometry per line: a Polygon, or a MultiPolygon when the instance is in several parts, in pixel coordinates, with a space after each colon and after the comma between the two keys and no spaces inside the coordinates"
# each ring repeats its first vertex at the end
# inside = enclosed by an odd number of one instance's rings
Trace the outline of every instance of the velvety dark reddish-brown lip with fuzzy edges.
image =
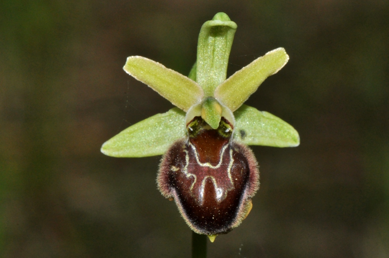
{"type": "Polygon", "coordinates": [[[217,129],[201,117],[187,129],[189,137],[175,142],[162,157],[159,190],[174,198],[196,233],[228,233],[247,216],[259,187],[255,156],[233,141],[232,125],[223,117],[217,129]]]}

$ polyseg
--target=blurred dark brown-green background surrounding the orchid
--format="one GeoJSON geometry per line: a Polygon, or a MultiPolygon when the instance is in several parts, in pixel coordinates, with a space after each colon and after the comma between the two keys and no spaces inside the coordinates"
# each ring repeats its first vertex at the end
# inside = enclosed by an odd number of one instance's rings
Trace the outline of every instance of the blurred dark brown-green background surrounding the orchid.
{"type": "Polygon", "coordinates": [[[261,189],[209,257],[389,257],[387,0],[1,0],[0,257],[189,257],[156,185],[160,156],[103,142],[172,104],[122,69],[188,74],[201,25],[238,24],[229,75],[278,47],[289,63],[247,104],[300,133],[253,146],[261,189]]]}

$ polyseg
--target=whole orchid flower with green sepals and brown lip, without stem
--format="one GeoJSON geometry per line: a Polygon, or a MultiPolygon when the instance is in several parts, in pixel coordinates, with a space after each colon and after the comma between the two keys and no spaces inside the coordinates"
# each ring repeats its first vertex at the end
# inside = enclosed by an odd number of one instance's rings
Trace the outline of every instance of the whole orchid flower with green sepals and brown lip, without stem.
{"type": "Polygon", "coordinates": [[[297,131],[283,120],[244,105],[289,57],[278,48],[226,80],[237,26],[224,13],[201,28],[197,61],[189,77],[141,56],[124,70],[176,105],[125,129],[103,144],[115,157],[163,155],[158,186],[173,198],[196,233],[227,233],[248,215],[259,187],[255,156],[247,145],[298,146],[297,131]]]}

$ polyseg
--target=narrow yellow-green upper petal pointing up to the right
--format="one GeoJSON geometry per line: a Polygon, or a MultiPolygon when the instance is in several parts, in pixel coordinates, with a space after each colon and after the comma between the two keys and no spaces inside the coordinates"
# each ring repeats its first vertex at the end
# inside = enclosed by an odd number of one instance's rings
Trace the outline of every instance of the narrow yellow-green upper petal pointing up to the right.
{"type": "Polygon", "coordinates": [[[214,97],[231,111],[235,111],[268,76],[278,72],[288,60],[289,56],[283,48],[267,52],[219,85],[215,89],[214,97]]]}

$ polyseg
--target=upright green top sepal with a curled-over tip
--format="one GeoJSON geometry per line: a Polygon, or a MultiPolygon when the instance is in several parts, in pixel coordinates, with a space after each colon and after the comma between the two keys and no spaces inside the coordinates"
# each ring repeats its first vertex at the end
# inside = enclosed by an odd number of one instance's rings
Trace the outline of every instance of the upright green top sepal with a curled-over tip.
{"type": "Polygon", "coordinates": [[[205,96],[227,77],[228,59],[237,25],[225,13],[217,13],[203,24],[197,43],[196,81],[205,96]]]}

